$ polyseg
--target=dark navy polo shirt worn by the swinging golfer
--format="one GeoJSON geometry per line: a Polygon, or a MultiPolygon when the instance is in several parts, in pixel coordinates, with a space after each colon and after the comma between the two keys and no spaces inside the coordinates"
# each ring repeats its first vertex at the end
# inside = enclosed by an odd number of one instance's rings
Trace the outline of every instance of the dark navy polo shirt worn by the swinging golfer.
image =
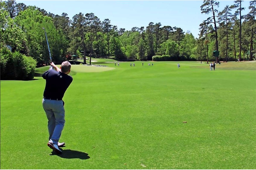
{"type": "Polygon", "coordinates": [[[50,69],[42,75],[46,79],[46,85],[44,88],[44,97],[53,100],[62,100],[65,91],[73,81],[70,75],[63,72],[58,72],[54,69],[50,69]]]}

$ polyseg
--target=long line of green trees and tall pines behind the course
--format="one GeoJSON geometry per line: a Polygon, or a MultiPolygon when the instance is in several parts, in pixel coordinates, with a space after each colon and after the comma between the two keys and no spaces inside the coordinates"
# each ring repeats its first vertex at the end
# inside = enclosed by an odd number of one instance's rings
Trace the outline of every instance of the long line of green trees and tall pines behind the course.
{"type": "Polygon", "coordinates": [[[78,13],[70,19],[67,13],[55,15],[36,6],[16,1],[1,1],[1,47],[31,56],[41,66],[49,63],[45,34],[52,59],[61,63],[81,56],[111,58],[119,61],[154,60],[239,61],[253,60],[256,45],[256,1],[250,1],[250,12],[243,1],[219,10],[219,2],[203,1],[201,13],[211,14],[199,26],[199,38],[176,26],[150,22],[131,30],[117,29],[110,19],[101,21],[94,13],[78,13]],[[236,9],[235,13],[231,13],[236,9]],[[243,20],[243,21],[242,21],[243,20]],[[220,52],[219,57],[213,51],[220,52]],[[248,57],[248,58],[247,58],[248,57]]]}

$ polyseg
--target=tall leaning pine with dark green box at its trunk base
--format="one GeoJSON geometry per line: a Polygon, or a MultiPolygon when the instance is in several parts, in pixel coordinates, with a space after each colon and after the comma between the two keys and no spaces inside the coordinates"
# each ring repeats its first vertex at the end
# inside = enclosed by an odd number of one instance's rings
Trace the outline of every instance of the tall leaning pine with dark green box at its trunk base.
{"type": "MultiPolygon", "coordinates": [[[[216,50],[219,51],[218,33],[217,33],[217,25],[216,25],[216,19],[215,19],[215,13],[218,13],[218,10],[214,9],[215,6],[219,7],[219,2],[203,1],[203,5],[201,5],[200,7],[202,11],[201,13],[205,13],[205,14],[212,13],[212,16],[207,18],[207,22],[214,24],[216,50]]],[[[216,57],[216,62],[219,63],[219,57],[216,57]]]]}

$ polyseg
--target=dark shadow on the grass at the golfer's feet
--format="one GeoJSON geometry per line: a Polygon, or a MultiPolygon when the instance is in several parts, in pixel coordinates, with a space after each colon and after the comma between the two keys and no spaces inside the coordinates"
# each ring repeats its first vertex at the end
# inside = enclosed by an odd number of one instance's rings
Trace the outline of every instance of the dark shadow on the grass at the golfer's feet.
{"type": "Polygon", "coordinates": [[[76,150],[70,150],[70,149],[63,150],[61,148],[60,148],[60,150],[62,151],[62,154],[57,154],[55,151],[52,151],[51,155],[57,155],[59,157],[66,158],[66,159],[79,158],[79,159],[82,159],[82,160],[86,160],[86,159],[90,158],[88,156],[88,154],[84,153],[84,152],[80,152],[80,151],[76,151],[76,150]]]}

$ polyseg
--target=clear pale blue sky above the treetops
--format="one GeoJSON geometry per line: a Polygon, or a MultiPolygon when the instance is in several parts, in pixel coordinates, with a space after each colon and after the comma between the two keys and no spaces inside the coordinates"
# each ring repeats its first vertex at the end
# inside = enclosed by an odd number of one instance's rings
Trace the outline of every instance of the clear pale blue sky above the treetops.
{"type": "MultiPolygon", "coordinates": [[[[146,26],[150,22],[160,22],[162,26],[176,26],[188,30],[194,37],[198,37],[199,24],[206,20],[207,15],[201,14],[200,6],[203,1],[25,1],[16,0],[17,3],[37,6],[55,15],[67,13],[72,19],[75,14],[94,13],[101,21],[109,19],[111,25],[118,29],[131,30],[132,27],[146,26]]],[[[249,12],[250,1],[243,1],[242,15],[249,12]]],[[[232,5],[234,1],[219,1],[219,12],[226,5],[232,5]]],[[[234,11],[234,10],[233,10],[234,11]]],[[[161,27],[162,27],[161,26],[161,27]]]]}

